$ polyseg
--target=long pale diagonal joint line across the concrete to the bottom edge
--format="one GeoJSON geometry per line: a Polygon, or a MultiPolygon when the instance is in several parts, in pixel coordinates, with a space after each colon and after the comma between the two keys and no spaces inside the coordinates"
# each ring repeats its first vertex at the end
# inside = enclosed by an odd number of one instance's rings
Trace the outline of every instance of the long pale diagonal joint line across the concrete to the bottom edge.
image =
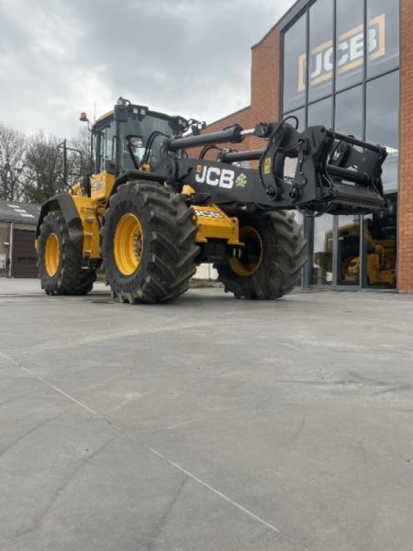
{"type": "Polygon", "coordinates": [[[70,394],[67,394],[65,391],[63,391],[61,388],[59,388],[59,386],[55,386],[54,384],[52,384],[52,383],[48,382],[47,380],[43,379],[43,377],[40,377],[40,375],[36,375],[36,373],[33,373],[33,371],[30,371],[30,369],[22,366],[19,362],[14,360],[12,357],[4,354],[3,352],[0,352],[0,355],[3,356],[6,360],[11,362],[12,364],[14,364],[15,366],[21,368],[23,371],[25,371],[25,373],[28,373],[31,377],[34,377],[35,379],[41,381],[43,384],[45,384],[46,386],[49,386],[50,388],[52,388],[57,393],[65,396],[67,399],[70,399],[72,402],[74,402],[78,406],[81,406],[81,408],[84,408],[89,413],[92,413],[92,415],[94,415],[95,417],[103,419],[103,421],[105,421],[109,425],[109,427],[112,428],[112,430],[115,430],[117,433],[120,433],[124,437],[127,437],[131,441],[134,441],[136,444],[138,444],[142,448],[145,448],[145,450],[148,450],[153,455],[156,455],[156,457],[158,457],[159,459],[161,459],[165,463],[167,463],[170,466],[176,468],[180,472],[183,472],[184,475],[187,475],[187,477],[191,478],[193,481],[200,484],[200,486],[203,486],[204,488],[207,488],[207,490],[209,490],[210,492],[212,492],[216,496],[220,497],[221,499],[224,499],[224,501],[226,501],[227,503],[230,503],[232,506],[234,506],[238,510],[244,512],[244,514],[247,514],[248,517],[250,517],[251,519],[254,519],[255,521],[257,521],[257,522],[261,523],[262,525],[266,526],[266,528],[269,528],[270,530],[272,530],[273,532],[275,532],[276,534],[278,534],[282,538],[286,539],[290,543],[293,543],[293,545],[296,545],[297,547],[303,549],[304,551],[312,551],[310,548],[306,547],[306,545],[303,545],[302,543],[299,543],[298,541],[295,541],[295,539],[293,539],[292,537],[288,536],[288,534],[286,534],[285,532],[283,532],[282,530],[277,528],[277,526],[274,526],[273,524],[271,524],[271,523],[267,522],[266,520],[262,519],[257,514],[250,511],[249,509],[242,506],[241,503],[238,503],[237,501],[234,501],[233,499],[231,499],[231,497],[227,496],[223,492],[220,492],[220,490],[217,490],[217,488],[214,488],[213,486],[211,486],[210,484],[208,484],[204,480],[200,479],[196,475],[193,475],[192,472],[190,472],[189,470],[187,470],[184,467],[180,466],[180,464],[176,463],[175,461],[172,461],[171,459],[168,459],[168,457],[166,457],[162,453],[158,452],[158,450],[156,450],[155,448],[151,448],[151,446],[148,446],[144,442],[140,441],[138,438],[136,438],[133,435],[127,433],[120,426],[110,422],[109,419],[107,419],[107,417],[104,417],[103,415],[100,415],[100,413],[94,411],[92,408],[89,408],[89,406],[87,406],[86,404],[83,404],[83,402],[79,402],[78,399],[76,399],[75,397],[73,397],[70,394]]]}

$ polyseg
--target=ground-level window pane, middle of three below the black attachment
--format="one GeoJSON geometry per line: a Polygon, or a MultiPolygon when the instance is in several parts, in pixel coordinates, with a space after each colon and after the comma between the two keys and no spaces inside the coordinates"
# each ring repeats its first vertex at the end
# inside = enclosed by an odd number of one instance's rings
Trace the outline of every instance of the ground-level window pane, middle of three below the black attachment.
{"type": "Polygon", "coordinates": [[[359,216],[338,217],[337,282],[358,285],[360,282],[360,219],[359,216]]]}

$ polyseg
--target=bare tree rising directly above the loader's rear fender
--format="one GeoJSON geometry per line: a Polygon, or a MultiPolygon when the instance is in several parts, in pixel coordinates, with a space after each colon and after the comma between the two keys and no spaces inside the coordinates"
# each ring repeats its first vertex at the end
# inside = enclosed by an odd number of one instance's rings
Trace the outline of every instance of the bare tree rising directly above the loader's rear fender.
{"type": "Polygon", "coordinates": [[[43,202],[65,189],[63,157],[59,138],[39,132],[33,136],[25,156],[24,197],[29,202],[43,202]]]}

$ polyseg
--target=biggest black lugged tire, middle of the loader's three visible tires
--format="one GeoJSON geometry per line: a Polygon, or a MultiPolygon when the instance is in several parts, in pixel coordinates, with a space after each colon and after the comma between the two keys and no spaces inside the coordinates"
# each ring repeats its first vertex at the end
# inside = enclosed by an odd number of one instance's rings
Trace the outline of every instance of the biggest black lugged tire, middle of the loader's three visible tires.
{"type": "Polygon", "coordinates": [[[102,256],[112,296],[120,302],[171,302],[188,290],[195,273],[197,228],[193,209],[173,189],[142,180],[120,185],[105,211],[101,230],[102,256]],[[135,247],[140,260],[133,273],[120,270],[115,233],[120,220],[133,215],[142,242],[135,247]]]}

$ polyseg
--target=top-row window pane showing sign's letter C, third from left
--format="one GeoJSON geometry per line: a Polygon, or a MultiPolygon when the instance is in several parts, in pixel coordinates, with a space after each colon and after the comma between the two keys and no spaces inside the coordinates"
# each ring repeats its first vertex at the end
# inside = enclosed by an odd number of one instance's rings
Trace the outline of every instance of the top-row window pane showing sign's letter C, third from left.
{"type": "Polygon", "coordinates": [[[337,0],[336,17],[336,90],[342,90],[363,80],[363,1],[337,0]]]}

